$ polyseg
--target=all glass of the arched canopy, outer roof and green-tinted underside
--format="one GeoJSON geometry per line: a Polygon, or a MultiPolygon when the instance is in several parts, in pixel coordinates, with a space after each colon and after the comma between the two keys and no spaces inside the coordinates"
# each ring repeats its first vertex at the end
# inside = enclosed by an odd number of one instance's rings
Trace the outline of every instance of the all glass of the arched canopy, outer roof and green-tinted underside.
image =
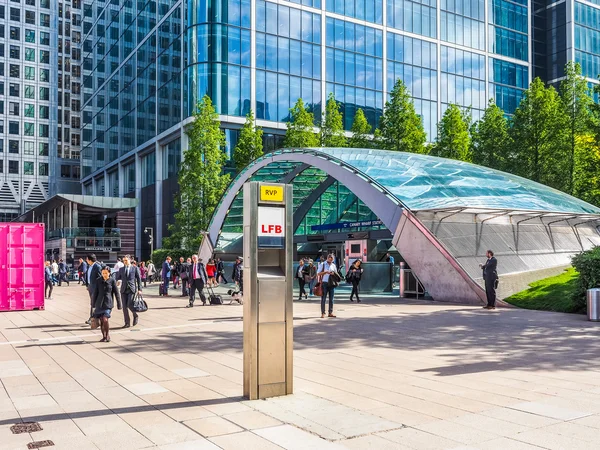
{"type": "MultiPolygon", "coordinates": [[[[320,233],[313,230],[313,226],[377,219],[368,205],[358,198],[353,186],[346,186],[332,179],[325,170],[311,166],[310,163],[300,162],[299,154],[308,154],[310,158],[316,158],[315,166],[320,165],[317,161],[322,162],[323,159],[345,166],[355,172],[357,177],[378,185],[382,196],[387,194],[415,212],[468,208],[575,215],[600,214],[600,208],[563,192],[515,175],[461,161],[370,149],[278,150],[246,167],[232,185],[240,178],[247,181],[291,182],[294,186],[294,214],[302,215],[294,217],[297,235],[320,233]],[[264,164],[274,156],[278,157],[277,160],[264,164]],[[259,163],[263,163],[262,167],[253,169],[259,163]],[[313,197],[314,201],[310,200],[311,194],[317,190],[320,191],[318,198],[314,200],[313,197]],[[312,204],[306,205],[309,201],[312,204]]],[[[222,249],[234,244],[241,237],[242,193],[240,189],[230,205],[219,205],[219,208],[228,207],[228,211],[222,225],[211,224],[211,228],[213,225],[220,226],[221,233],[216,248],[222,249]]],[[[375,224],[368,227],[382,228],[385,227],[375,224]]],[[[328,230],[339,231],[334,228],[328,230]]]]}

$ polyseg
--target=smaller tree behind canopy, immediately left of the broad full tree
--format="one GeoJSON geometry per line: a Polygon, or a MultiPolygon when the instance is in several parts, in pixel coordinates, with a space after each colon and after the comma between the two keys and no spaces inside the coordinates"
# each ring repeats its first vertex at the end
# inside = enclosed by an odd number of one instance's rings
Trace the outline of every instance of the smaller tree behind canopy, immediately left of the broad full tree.
{"type": "Polygon", "coordinates": [[[510,136],[504,112],[490,100],[483,117],[474,127],[473,162],[492,169],[505,170],[510,136]]]}

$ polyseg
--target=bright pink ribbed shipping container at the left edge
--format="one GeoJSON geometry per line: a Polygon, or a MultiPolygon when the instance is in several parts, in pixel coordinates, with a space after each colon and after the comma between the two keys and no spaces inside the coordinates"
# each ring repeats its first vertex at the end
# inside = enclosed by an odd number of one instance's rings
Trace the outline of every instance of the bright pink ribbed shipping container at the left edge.
{"type": "Polygon", "coordinates": [[[44,224],[0,223],[0,311],[44,309],[44,224]]]}

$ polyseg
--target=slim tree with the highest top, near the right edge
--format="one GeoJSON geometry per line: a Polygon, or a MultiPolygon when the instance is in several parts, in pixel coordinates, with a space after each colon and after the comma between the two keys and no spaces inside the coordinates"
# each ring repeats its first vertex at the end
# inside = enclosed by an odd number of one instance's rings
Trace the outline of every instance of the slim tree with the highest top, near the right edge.
{"type": "Polygon", "coordinates": [[[568,169],[565,190],[572,194],[575,177],[575,158],[580,149],[578,144],[586,142],[580,139],[590,131],[591,106],[593,103],[587,81],[581,76],[579,63],[569,61],[565,67],[566,78],[560,83],[560,96],[567,120],[566,139],[568,147],[568,169]]]}

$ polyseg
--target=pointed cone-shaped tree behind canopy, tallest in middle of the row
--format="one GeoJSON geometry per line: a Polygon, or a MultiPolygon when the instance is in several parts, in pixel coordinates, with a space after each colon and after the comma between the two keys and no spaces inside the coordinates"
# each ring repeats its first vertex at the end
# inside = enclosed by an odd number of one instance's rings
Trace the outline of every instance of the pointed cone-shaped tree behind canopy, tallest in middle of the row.
{"type": "Polygon", "coordinates": [[[404,82],[398,78],[379,120],[379,145],[387,150],[425,153],[427,135],[404,82]]]}

